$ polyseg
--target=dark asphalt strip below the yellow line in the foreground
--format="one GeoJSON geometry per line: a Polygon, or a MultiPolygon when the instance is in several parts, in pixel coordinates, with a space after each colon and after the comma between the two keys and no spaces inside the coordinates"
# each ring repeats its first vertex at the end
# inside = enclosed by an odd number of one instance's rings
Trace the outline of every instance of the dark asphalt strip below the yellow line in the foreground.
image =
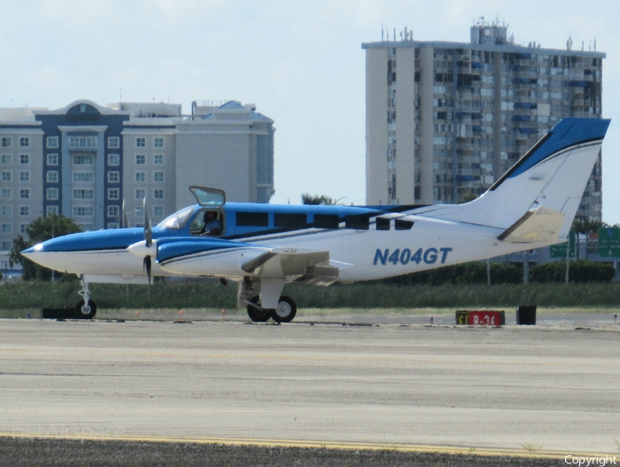
{"type": "Polygon", "coordinates": [[[479,456],[475,454],[402,453],[395,450],[349,451],[324,448],[263,448],[191,443],[0,439],[0,466],[7,467],[546,467],[561,465],[567,465],[564,459],[479,456]]]}

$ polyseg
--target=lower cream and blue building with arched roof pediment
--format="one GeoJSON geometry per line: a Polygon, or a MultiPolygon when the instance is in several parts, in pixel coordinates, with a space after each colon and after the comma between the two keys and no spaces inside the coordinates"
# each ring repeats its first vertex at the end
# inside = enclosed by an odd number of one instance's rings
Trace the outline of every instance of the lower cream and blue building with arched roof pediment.
{"type": "MultiPolygon", "coordinates": [[[[195,202],[190,185],[269,203],[273,120],[237,101],[198,105],[75,101],[58,110],[0,109],[0,262],[39,216],[83,230],[159,222],[195,202]]],[[[6,266],[5,266],[6,268],[6,266]]]]}

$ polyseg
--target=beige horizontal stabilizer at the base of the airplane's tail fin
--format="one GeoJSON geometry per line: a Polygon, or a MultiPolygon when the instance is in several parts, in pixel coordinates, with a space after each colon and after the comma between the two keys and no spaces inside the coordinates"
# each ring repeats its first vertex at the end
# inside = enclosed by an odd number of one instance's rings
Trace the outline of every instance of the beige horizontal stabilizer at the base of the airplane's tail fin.
{"type": "Polygon", "coordinates": [[[530,209],[497,239],[509,243],[559,242],[565,217],[544,206],[530,209]]]}

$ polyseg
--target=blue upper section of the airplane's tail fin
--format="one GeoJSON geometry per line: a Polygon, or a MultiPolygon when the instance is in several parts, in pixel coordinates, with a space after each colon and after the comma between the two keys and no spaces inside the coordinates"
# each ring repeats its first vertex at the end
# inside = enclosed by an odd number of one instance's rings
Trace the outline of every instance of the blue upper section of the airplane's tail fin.
{"type": "Polygon", "coordinates": [[[489,190],[496,189],[506,178],[516,177],[526,172],[567,147],[602,140],[610,122],[607,118],[563,118],[489,190]]]}

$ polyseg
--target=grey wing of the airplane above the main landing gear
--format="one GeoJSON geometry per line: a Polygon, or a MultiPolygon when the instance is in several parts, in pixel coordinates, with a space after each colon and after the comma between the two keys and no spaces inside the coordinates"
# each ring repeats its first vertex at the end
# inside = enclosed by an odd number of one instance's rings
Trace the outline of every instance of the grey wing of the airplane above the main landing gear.
{"type": "Polygon", "coordinates": [[[329,251],[273,248],[242,264],[241,269],[261,278],[285,278],[304,284],[327,285],[338,280],[340,269],[351,264],[329,261],[329,251]]]}

